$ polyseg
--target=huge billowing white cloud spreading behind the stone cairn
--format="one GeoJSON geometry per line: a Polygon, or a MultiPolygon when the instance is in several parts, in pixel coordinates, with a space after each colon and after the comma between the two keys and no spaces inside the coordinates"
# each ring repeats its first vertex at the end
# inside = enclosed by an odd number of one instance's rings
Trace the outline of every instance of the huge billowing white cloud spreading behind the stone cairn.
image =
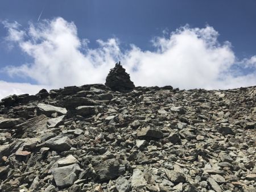
{"type": "Polygon", "coordinates": [[[39,85],[62,87],[104,83],[115,62],[121,60],[136,86],[172,85],[181,89],[228,89],[256,84],[256,56],[238,61],[231,43],[218,42],[213,27],[184,26],[152,40],[154,51],[130,45],[121,51],[118,39],[97,40],[98,48],[80,39],[73,22],[63,18],[30,24],[21,30],[18,23],[5,22],[9,43],[16,44],[33,59],[4,70],[10,76],[30,77],[39,85]],[[239,66],[234,69],[233,66],[239,66]]]}

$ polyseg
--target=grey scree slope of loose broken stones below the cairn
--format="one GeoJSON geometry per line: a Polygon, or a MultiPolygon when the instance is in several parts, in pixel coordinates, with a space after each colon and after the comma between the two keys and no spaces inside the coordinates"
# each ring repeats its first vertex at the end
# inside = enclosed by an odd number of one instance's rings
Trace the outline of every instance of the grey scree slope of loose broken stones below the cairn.
{"type": "Polygon", "coordinates": [[[0,191],[256,191],[256,87],[133,87],[117,68],[2,99],[0,191]]]}

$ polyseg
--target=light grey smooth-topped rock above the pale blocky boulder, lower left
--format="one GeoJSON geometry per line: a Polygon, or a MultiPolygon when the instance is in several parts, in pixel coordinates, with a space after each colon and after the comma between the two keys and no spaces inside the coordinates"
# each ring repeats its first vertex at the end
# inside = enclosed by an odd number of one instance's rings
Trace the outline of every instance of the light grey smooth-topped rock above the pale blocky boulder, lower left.
{"type": "Polygon", "coordinates": [[[56,136],[46,142],[47,147],[56,151],[68,151],[71,148],[72,142],[67,136],[56,136]]]}

